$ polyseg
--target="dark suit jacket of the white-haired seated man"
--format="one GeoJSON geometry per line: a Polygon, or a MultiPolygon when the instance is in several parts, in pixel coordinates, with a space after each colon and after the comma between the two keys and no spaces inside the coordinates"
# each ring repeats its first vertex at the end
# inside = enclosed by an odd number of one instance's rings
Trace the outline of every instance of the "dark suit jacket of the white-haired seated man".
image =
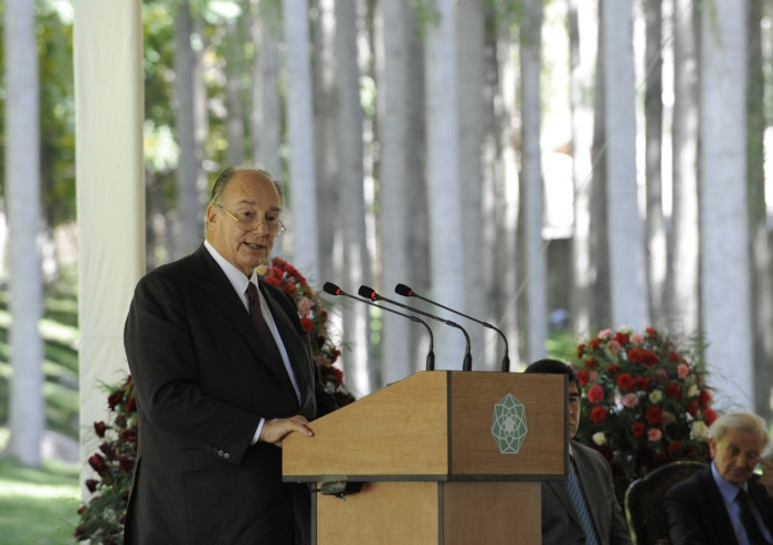
{"type": "MultiPolygon", "coordinates": [[[[752,475],[749,495],[773,535],[773,499],[752,475]]],[[[666,493],[666,513],[674,545],[738,545],[722,493],[711,468],[700,470],[666,493]]]]}

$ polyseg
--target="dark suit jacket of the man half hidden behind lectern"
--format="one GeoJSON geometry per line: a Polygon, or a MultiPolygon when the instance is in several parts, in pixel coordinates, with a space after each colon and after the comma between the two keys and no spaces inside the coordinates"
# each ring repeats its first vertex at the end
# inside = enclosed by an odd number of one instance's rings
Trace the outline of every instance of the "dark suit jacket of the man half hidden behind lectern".
{"type": "MultiPolygon", "coordinates": [[[[631,545],[631,533],[615,497],[610,465],[597,451],[572,441],[578,479],[600,545],[631,545]]],[[[542,545],[584,544],[585,532],[564,481],[542,482],[542,545]]]]}

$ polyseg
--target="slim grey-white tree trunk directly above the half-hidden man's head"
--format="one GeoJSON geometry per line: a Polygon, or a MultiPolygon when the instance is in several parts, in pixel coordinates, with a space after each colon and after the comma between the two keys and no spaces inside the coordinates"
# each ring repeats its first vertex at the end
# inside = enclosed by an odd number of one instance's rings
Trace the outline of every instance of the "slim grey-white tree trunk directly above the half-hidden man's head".
{"type": "Polygon", "coordinates": [[[523,187],[523,244],[526,256],[526,302],[528,321],[527,359],[547,355],[548,263],[542,242],[543,187],[540,147],[540,70],[542,0],[525,6],[520,33],[521,60],[521,181],[523,187]]]}

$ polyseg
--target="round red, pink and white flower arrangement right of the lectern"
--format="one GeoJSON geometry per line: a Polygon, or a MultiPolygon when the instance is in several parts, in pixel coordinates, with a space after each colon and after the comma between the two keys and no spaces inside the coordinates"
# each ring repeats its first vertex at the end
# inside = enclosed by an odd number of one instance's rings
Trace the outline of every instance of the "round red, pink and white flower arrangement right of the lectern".
{"type": "Polygon", "coordinates": [[[679,348],[665,332],[600,331],[578,345],[585,391],[576,439],[612,467],[618,500],[628,484],[676,460],[709,461],[717,419],[697,346],[679,348]]]}

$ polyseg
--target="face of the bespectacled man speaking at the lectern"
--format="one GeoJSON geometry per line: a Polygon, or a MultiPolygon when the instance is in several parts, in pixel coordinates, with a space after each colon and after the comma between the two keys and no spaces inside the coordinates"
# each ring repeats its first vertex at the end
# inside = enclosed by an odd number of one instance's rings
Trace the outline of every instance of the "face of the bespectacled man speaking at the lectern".
{"type": "MultiPolygon", "coordinates": [[[[267,221],[278,218],[282,200],[274,184],[256,172],[233,175],[220,197],[220,206],[239,219],[267,221]]],[[[263,263],[274,247],[274,237],[260,224],[252,232],[243,231],[236,221],[214,205],[207,209],[208,240],[229,263],[247,276],[263,263]]]]}

